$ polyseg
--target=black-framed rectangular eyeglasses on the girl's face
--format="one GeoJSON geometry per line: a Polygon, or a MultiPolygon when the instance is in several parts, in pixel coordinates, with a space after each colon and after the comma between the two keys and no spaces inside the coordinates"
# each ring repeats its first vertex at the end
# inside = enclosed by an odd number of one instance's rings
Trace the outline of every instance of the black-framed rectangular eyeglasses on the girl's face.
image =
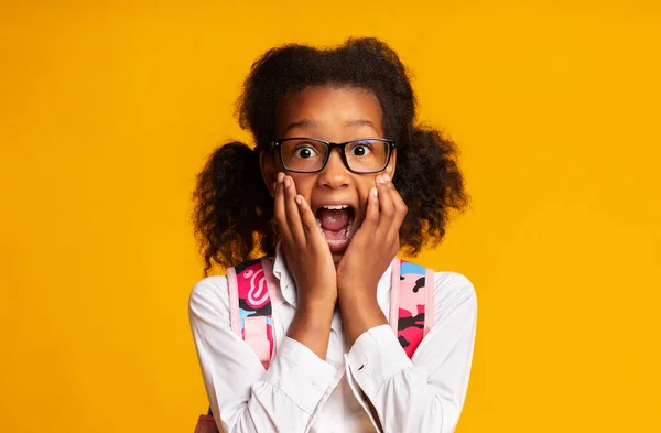
{"type": "Polygon", "coordinates": [[[351,173],[378,173],[388,166],[394,141],[359,139],[333,143],[317,139],[290,138],[273,141],[271,144],[271,149],[278,149],[284,169],[294,173],[321,172],[335,148],[340,150],[342,160],[351,173]]]}

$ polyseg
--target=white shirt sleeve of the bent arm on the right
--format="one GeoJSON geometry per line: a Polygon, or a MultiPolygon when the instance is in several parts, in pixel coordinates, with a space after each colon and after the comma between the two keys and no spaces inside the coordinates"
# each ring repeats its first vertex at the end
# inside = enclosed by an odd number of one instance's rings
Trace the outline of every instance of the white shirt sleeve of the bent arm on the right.
{"type": "Polygon", "coordinates": [[[354,394],[384,433],[449,433],[458,422],[473,359],[477,300],[470,281],[458,273],[437,272],[434,289],[436,322],[412,359],[389,325],[365,332],[345,356],[354,394]]]}

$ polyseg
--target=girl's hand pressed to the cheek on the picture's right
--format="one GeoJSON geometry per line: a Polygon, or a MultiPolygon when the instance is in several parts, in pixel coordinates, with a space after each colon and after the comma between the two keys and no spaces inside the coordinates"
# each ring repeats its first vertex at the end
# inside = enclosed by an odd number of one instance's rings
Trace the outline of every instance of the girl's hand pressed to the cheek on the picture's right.
{"type": "Polygon", "coordinates": [[[369,192],[365,220],[337,266],[342,303],[348,299],[376,302],[379,279],[400,249],[399,230],[407,212],[390,176],[378,176],[377,187],[369,192]]]}

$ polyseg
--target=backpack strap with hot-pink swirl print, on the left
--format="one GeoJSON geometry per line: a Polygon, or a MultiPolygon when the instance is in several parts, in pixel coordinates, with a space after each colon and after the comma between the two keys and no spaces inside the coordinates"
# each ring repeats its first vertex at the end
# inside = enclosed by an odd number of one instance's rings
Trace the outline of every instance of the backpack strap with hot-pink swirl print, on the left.
{"type": "Polygon", "coordinates": [[[227,268],[231,328],[250,346],[264,369],[269,368],[274,347],[272,267],[271,260],[262,258],[227,268]]]}

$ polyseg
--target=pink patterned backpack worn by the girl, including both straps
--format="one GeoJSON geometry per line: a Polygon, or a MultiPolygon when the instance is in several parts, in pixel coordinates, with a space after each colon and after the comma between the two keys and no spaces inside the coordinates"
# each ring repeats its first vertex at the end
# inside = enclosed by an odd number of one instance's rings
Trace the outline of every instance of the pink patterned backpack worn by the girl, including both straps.
{"type": "MultiPolygon", "coordinates": [[[[280,295],[273,262],[264,257],[228,268],[227,281],[231,328],[268,369],[275,346],[271,299],[280,295]]],[[[398,258],[392,261],[389,323],[411,358],[434,324],[432,269],[398,258]]],[[[199,415],[195,433],[218,433],[210,407],[199,415]]]]}

